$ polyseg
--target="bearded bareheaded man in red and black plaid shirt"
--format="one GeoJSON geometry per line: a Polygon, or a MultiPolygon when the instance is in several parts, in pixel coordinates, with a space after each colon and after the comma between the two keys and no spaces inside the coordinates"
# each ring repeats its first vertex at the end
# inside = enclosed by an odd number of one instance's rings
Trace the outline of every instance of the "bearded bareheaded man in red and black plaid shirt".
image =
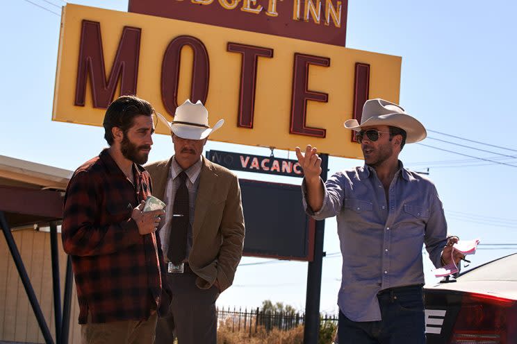
{"type": "Polygon", "coordinates": [[[153,141],[154,109],[121,96],[104,117],[109,148],[74,172],[65,195],[63,248],[72,257],[81,343],[154,343],[167,309],[160,236],[163,210],[142,212],[151,178],[140,166],[153,141]]]}

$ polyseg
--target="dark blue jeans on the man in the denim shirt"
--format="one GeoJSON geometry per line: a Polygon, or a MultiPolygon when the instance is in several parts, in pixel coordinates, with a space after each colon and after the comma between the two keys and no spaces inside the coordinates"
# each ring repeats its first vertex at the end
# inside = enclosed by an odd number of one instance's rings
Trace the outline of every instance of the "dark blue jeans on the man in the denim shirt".
{"type": "Polygon", "coordinates": [[[380,321],[356,322],[339,312],[339,344],[425,344],[422,286],[402,286],[377,294],[380,321]]]}

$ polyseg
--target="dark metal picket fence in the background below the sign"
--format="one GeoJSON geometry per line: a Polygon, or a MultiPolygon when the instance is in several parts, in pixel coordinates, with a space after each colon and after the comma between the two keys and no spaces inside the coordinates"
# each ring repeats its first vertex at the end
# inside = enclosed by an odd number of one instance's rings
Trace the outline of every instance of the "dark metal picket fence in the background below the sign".
{"type": "MultiPolygon", "coordinates": [[[[236,309],[236,307],[218,308],[218,326],[231,328],[232,332],[257,332],[260,327],[264,327],[266,332],[273,328],[288,331],[299,325],[304,325],[305,314],[292,311],[264,311],[256,309],[236,309]]],[[[338,316],[325,314],[320,318],[320,322],[338,323],[338,316]]]]}

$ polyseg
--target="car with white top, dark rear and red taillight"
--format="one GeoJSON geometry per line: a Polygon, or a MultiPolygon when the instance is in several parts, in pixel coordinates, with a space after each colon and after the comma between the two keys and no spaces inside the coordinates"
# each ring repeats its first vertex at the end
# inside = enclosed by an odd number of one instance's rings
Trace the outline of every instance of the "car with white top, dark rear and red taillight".
{"type": "Polygon", "coordinates": [[[427,344],[517,344],[517,253],[451,281],[424,288],[427,344]]]}

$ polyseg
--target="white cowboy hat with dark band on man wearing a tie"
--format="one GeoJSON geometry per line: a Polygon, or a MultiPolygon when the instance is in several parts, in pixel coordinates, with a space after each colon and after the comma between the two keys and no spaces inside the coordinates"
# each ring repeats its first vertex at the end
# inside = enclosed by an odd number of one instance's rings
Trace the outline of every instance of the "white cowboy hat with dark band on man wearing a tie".
{"type": "Polygon", "coordinates": [[[224,124],[224,119],[220,119],[213,128],[210,128],[206,107],[201,101],[194,104],[190,99],[176,108],[174,121],[167,121],[161,114],[158,114],[158,118],[174,132],[174,135],[182,139],[204,139],[224,124]]]}

